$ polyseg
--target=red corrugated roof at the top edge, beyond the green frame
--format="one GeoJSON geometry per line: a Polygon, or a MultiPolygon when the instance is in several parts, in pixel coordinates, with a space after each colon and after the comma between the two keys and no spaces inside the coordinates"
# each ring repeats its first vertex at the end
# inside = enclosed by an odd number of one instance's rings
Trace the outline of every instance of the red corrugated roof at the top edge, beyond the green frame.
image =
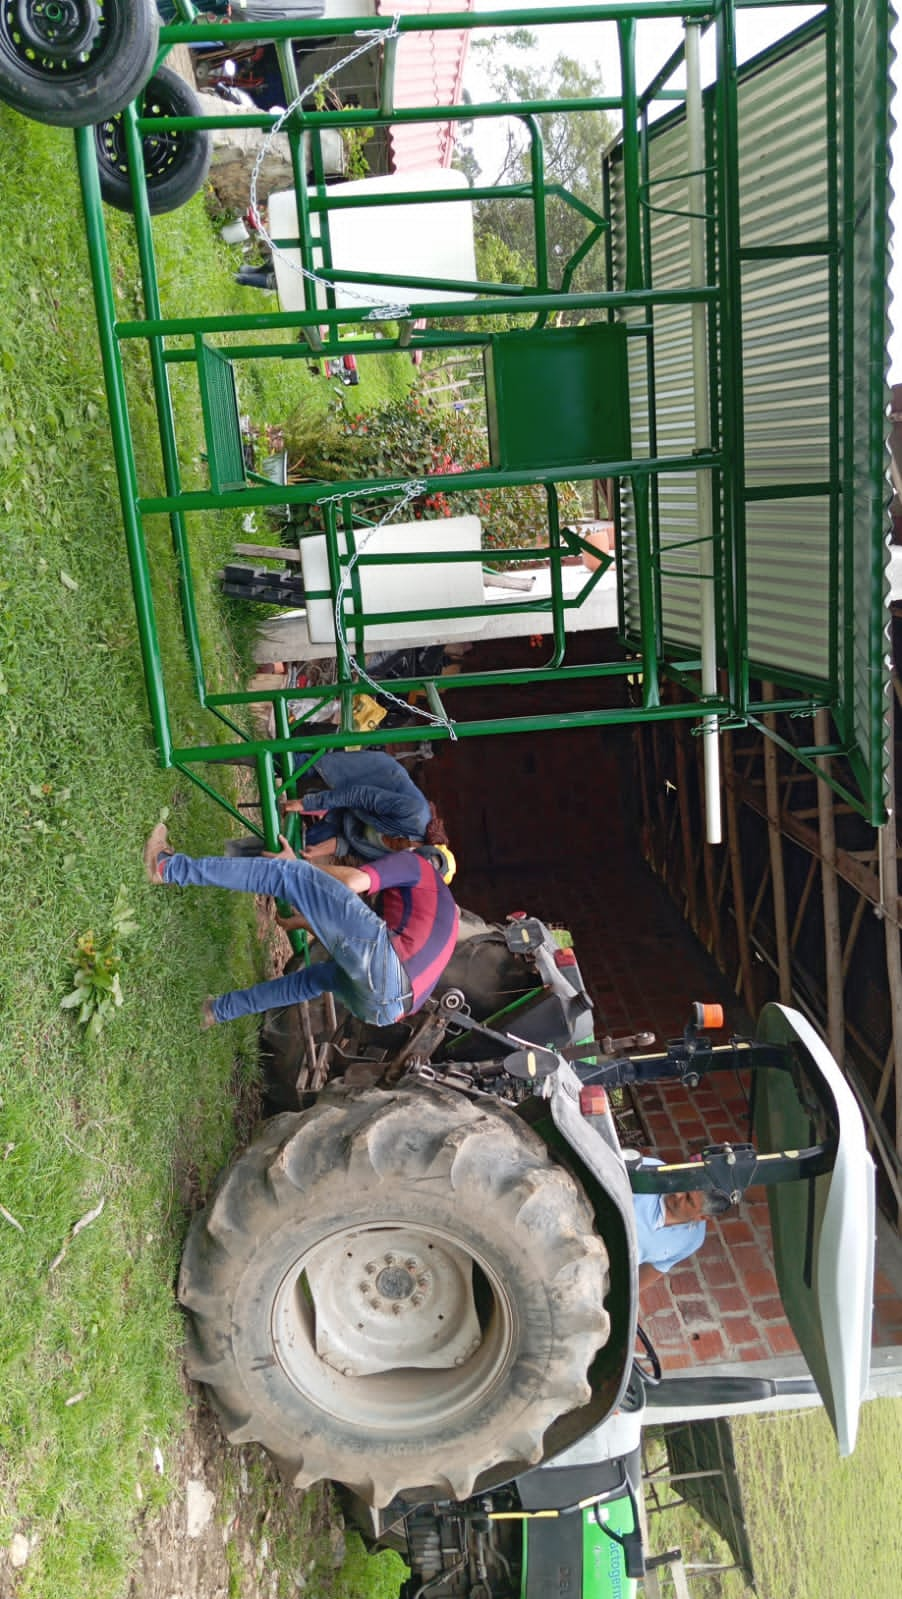
{"type": "MultiPolygon", "coordinates": [[[[424,16],[438,11],[472,11],[473,0],[377,0],[379,16],[424,16]]],[[[395,61],[395,106],[456,106],[461,99],[469,34],[443,29],[437,34],[403,34],[395,61]]],[[[451,122],[408,123],[390,130],[392,166],[397,173],[424,166],[451,166],[451,122]]]]}

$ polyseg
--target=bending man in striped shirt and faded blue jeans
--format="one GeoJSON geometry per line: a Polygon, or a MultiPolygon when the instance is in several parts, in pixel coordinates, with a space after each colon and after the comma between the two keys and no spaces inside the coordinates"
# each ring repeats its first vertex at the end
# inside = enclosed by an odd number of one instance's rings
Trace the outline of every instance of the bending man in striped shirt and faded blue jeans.
{"type": "Polygon", "coordinates": [[[441,879],[445,859],[425,846],[363,867],[315,867],[281,839],[278,855],[192,859],[171,849],[160,822],[144,847],[150,883],[241,889],[288,899],[328,961],[206,999],[203,1025],[297,1004],[329,991],[361,1022],[390,1027],[417,1011],[457,942],[457,907],[441,879]],[[360,899],[382,894],[382,915],[360,899]]]}

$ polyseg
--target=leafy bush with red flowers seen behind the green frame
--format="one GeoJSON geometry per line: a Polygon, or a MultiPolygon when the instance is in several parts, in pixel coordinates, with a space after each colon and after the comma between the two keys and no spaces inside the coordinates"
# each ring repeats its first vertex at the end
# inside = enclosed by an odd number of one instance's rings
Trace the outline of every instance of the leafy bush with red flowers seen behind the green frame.
{"type": "MultiPolygon", "coordinates": [[[[392,478],[395,483],[451,477],[488,467],[486,430],[465,411],[424,401],[416,393],[392,400],[374,411],[352,413],[344,397],[312,429],[302,417],[285,424],[289,478],[301,481],[360,481],[392,478]]],[[[357,508],[373,518],[397,504],[397,494],[360,496],[357,508]]],[[[579,492],[558,484],[561,520],[582,515],[579,492]]],[[[296,526],[321,528],[317,505],[296,507],[296,526]]],[[[411,502],[405,515],[417,521],[443,516],[480,516],[488,550],[529,548],[547,539],[547,500],[541,484],[502,489],[430,489],[411,502]]]]}

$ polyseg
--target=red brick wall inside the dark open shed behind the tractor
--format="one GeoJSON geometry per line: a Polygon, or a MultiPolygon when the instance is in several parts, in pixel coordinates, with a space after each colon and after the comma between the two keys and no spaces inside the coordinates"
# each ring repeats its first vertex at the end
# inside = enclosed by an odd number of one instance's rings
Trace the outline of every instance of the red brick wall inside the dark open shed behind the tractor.
{"type": "MultiPolygon", "coordinates": [[[[521,652],[521,664],[534,659],[526,643],[521,652]]],[[[528,692],[529,712],[544,710],[544,691],[528,692]]],[[[581,694],[590,704],[590,691],[581,694]]],[[[467,715],[504,716],[515,705],[505,689],[467,699],[467,715]]],[[[449,827],[457,897],[489,919],[529,910],[565,923],[598,1035],[676,1036],[692,999],[723,1003],[728,1023],[744,1031],[748,1019],[732,990],[640,855],[630,763],[629,729],[619,728],[437,747],[422,780],[449,827]]],[[[646,1089],[641,1103],[662,1158],[747,1135],[745,1086],[726,1073],[692,1095],[646,1089]]],[[[645,1311],[669,1369],[798,1348],[777,1295],[763,1190],[752,1190],[737,1217],[708,1225],[702,1250],[656,1286],[645,1311]]],[[[875,1332],[876,1343],[902,1342],[902,1303],[881,1274],[875,1332]]]]}

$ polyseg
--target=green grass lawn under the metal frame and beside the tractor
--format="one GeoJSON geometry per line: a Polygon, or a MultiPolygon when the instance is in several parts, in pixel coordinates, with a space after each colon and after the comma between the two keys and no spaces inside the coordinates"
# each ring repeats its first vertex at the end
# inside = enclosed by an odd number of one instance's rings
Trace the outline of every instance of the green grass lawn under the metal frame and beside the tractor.
{"type": "MultiPolygon", "coordinates": [[[[186,1420],[173,1287],[187,1214],[241,1135],[237,1107],[245,1121],[253,1108],[253,1023],[200,1033],[198,1004],[253,980],[261,950],[249,900],[142,878],[163,807],[198,854],[221,849],[229,822],[158,769],[150,742],[72,139],[5,109],[0,139],[0,1549],[30,1540],[18,1594],[114,1599],[138,1506],[170,1490],[154,1449],[166,1455],[186,1420]],[[75,940],[104,935],[120,887],[134,924],[123,1004],[88,1038],[61,1003],[75,940]]],[[[126,219],[112,227],[117,305],[131,313],[126,219]]],[[[230,286],[233,257],[200,200],[155,233],[173,310],[214,277],[230,286]]],[[[325,403],[317,382],[323,401],[304,361],[261,361],[241,403],[278,422],[304,390],[325,403]]],[[[182,421],[197,454],[197,417],[182,421]]],[[[149,405],[134,425],[152,477],[149,405]]],[[[192,523],[211,681],[237,672],[203,579],[233,532],[230,518],[192,523]]],[[[211,726],[182,662],[168,529],[152,542],[173,720],[197,737],[211,726]]],[[[352,1554],[352,1588],[329,1573],[321,1594],[368,1591],[352,1554]]]]}

